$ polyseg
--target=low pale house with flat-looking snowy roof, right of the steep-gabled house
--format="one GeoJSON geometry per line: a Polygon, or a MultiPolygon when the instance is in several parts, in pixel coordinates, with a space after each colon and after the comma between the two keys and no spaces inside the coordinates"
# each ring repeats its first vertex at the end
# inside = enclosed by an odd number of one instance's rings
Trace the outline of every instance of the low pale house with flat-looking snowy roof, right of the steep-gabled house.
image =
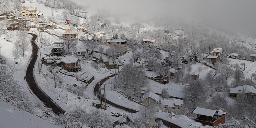
{"type": "Polygon", "coordinates": [[[183,104],[183,100],[171,98],[168,100],[161,100],[161,104],[164,108],[178,110],[183,104]]]}

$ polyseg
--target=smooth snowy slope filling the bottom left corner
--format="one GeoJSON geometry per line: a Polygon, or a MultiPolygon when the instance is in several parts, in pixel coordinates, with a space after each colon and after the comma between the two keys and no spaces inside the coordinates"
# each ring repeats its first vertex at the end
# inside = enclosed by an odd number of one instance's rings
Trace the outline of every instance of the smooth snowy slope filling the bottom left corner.
{"type": "Polygon", "coordinates": [[[63,128],[48,123],[36,115],[19,111],[15,106],[8,107],[8,103],[3,100],[0,100],[0,113],[0,128],[63,128]]]}

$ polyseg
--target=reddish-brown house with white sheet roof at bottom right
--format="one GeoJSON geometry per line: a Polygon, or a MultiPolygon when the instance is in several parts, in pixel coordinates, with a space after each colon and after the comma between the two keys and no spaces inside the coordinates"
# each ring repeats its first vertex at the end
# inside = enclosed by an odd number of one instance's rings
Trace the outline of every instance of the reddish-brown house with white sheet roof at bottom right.
{"type": "Polygon", "coordinates": [[[194,114],[194,120],[202,125],[218,126],[225,123],[226,112],[220,110],[211,110],[205,108],[195,108],[191,113],[194,114]]]}

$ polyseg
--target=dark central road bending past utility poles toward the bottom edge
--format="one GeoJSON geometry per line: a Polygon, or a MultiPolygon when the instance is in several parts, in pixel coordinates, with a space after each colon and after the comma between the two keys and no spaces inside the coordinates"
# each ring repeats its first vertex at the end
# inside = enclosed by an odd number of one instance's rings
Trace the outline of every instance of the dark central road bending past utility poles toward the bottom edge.
{"type": "MultiPolygon", "coordinates": [[[[113,76],[115,76],[115,74],[110,75],[110,76],[113,77],[113,76]]],[[[102,79],[101,81],[99,81],[99,82],[94,86],[93,92],[94,92],[94,95],[95,95],[95,96],[97,96],[97,94],[100,93],[100,86],[101,86],[101,84],[103,84],[105,81],[107,81],[110,76],[105,77],[104,79],[102,79]]],[[[100,99],[100,97],[98,97],[98,98],[100,99]]],[[[102,99],[102,101],[104,101],[104,99],[102,99]]],[[[133,110],[133,109],[126,108],[126,107],[124,107],[124,106],[120,106],[120,105],[118,105],[118,104],[115,104],[115,103],[113,103],[113,102],[111,102],[111,101],[109,101],[109,100],[107,100],[107,99],[106,99],[106,102],[107,102],[108,104],[110,104],[110,105],[116,107],[116,108],[125,110],[125,111],[127,111],[127,112],[131,112],[131,113],[136,113],[136,112],[138,112],[137,110],[133,110]]],[[[173,124],[173,123],[170,123],[170,122],[168,122],[168,121],[166,121],[166,120],[164,120],[164,119],[157,118],[157,120],[162,120],[162,122],[164,123],[164,125],[168,126],[169,128],[181,128],[180,126],[175,125],[175,124],[173,124]]]]}

